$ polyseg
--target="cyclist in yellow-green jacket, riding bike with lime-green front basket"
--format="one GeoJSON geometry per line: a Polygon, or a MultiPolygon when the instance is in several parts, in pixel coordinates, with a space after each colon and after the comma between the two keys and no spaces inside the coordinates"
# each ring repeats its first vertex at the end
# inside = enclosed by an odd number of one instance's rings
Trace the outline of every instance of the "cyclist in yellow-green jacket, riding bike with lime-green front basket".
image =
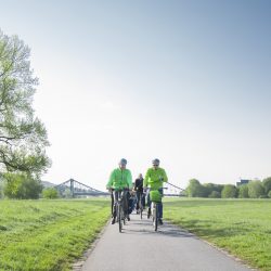
{"type": "MultiPolygon", "coordinates": [[[[158,190],[163,194],[163,182],[167,182],[168,178],[166,175],[166,171],[164,168],[159,167],[159,159],[155,158],[153,159],[153,167],[149,168],[145,175],[145,179],[143,182],[144,190],[146,190],[147,186],[151,188],[151,190],[158,190]]],[[[150,198],[150,195],[149,195],[150,198]]],[[[151,201],[149,199],[149,211],[147,216],[151,215],[151,201]]],[[[158,221],[160,224],[163,224],[163,204],[160,203],[158,205],[158,221]]]]}

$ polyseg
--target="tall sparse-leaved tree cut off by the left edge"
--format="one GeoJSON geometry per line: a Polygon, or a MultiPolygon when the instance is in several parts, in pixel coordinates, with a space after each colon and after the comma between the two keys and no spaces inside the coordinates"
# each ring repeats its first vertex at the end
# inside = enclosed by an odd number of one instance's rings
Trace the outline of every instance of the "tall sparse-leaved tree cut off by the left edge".
{"type": "Polygon", "coordinates": [[[30,50],[16,36],[0,30],[0,165],[2,171],[38,176],[50,166],[43,124],[31,106],[38,79],[29,64],[30,50]]]}

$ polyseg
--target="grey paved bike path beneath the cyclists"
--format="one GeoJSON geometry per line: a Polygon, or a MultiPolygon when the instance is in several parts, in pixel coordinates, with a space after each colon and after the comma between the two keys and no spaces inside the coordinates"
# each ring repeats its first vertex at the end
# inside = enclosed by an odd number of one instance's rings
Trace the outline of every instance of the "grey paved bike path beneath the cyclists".
{"type": "Polygon", "coordinates": [[[195,235],[164,223],[154,232],[151,220],[131,215],[118,232],[108,224],[83,271],[248,271],[249,268],[219,251],[195,235]]]}

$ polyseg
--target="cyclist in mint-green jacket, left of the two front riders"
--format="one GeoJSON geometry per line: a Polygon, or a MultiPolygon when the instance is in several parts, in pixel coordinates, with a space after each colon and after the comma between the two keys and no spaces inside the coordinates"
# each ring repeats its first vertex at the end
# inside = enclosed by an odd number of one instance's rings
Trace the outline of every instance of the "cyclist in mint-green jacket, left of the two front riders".
{"type": "Polygon", "coordinates": [[[124,198],[124,212],[127,217],[128,221],[130,221],[130,217],[128,214],[128,191],[132,189],[132,176],[131,171],[126,168],[127,159],[120,159],[118,164],[118,168],[114,169],[109,176],[109,180],[106,184],[106,189],[112,191],[114,206],[113,206],[113,218],[112,224],[116,221],[116,205],[118,201],[118,191],[122,191],[122,198],[124,198]]]}

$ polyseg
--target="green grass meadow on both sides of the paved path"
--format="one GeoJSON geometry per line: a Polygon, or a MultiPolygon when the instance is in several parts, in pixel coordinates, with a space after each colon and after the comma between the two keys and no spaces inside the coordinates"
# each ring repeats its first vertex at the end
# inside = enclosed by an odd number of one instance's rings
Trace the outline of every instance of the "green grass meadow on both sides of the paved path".
{"type": "MultiPolygon", "coordinates": [[[[251,267],[271,270],[271,201],[165,198],[164,217],[251,267]]],[[[109,201],[0,201],[0,270],[70,270],[109,201]]]]}

